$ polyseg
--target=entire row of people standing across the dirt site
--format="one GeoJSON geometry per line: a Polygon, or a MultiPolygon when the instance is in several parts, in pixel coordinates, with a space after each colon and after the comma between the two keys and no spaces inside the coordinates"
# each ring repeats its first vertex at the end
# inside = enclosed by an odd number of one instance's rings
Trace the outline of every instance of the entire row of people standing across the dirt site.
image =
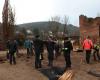
{"type": "MultiPolygon", "coordinates": [[[[15,53],[18,50],[18,43],[13,38],[7,42],[7,48],[9,55],[9,62],[10,64],[14,63],[16,64],[16,58],[15,53]]],[[[49,36],[48,40],[44,41],[40,39],[39,35],[36,35],[34,40],[30,41],[29,39],[26,39],[24,42],[24,47],[27,49],[27,58],[29,58],[30,55],[33,55],[33,49],[34,49],[34,55],[35,55],[35,68],[41,68],[42,64],[41,61],[43,59],[43,51],[44,46],[47,49],[48,52],[48,66],[53,67],[53,60],[54,57],[57,58],[57,56],[61,53],[59,52],[59,49],[61,48],[60,45],[58,45],[57,40],[54,40],[53,37],[49,36]],[[54,53],[54,51],[56,53],[54,53]]],[[[87,64],[90,63],[90,56],[91,56],[91,50],[94,49],[93,56],[94,60],[96,59],[96,56],[98,60],[100,60],[99,55],[99,44],[93,44],[92,40],[88,36],[83,41],[83,50],[86,51],[86,62],[87,64]]],[[[63,51],[64,59],[65,59],[65,68],[71,68],[71,51],[73,50],[73,45],[71,43],[71,40],[68,37],[64,37],[64,43],[63,48],[61,48],[61,51],[63,51]]]]}

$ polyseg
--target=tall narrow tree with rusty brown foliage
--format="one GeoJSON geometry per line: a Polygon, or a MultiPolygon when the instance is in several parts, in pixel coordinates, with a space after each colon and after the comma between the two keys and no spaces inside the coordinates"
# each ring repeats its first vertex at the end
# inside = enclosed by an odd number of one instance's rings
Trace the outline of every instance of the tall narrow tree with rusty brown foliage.
{"type": "Polygon", "coordinates": [[[15,13],[12,10],[9,0],[5,0],[2,11],[2,27],[3,27],[3,39],[4,44],[9,38],[14,37],[15,29],[15,13]]]}

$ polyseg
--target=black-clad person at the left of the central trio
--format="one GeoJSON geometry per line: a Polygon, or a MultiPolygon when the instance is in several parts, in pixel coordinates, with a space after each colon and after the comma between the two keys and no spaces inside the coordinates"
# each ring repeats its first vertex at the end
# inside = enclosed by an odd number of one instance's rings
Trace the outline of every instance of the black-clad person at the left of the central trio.
{"type": "Polygon", "coordinates": [[[41,68],[41,51],[43,50],[43,41],[39,39],[39,35],[36,35],[33,40],[34,51],[35,51],[35,68],[41,68]]]}

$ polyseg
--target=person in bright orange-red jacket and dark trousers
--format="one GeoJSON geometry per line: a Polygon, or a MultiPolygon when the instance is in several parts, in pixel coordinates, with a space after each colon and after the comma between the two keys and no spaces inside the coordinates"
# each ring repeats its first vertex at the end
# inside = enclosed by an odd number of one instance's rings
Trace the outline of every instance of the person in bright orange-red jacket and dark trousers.
{"type": "Polygon", "coordinates": [[[91,50],[93,49],[93,42],[90,39],[90,36],[87,36],[87,38],[83,41],[83,50],[86,52],[86,62],[87,64],[90,63],[90,56],[91,56],[91,50]]]}

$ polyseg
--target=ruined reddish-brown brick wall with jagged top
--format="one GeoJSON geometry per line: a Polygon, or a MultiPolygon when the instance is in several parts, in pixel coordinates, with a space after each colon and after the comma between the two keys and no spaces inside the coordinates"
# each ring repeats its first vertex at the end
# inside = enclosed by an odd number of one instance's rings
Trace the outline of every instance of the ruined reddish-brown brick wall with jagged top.
{"type": "Polygon", "coordinates": [[[79,16],[80,36],[85,39],[90,36],[93,42],[100,41],[100,17],[88,18],[84,15],[79,16]]]}

